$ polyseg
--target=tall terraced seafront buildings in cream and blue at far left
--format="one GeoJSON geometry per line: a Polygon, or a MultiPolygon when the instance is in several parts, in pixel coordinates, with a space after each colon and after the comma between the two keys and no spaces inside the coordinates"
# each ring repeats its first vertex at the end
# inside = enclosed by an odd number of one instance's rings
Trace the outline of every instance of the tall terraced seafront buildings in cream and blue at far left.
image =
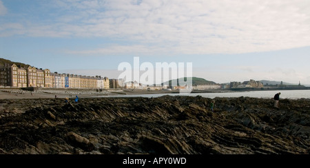
{"type": "Polygon", "coordinates": [[[4,64],[0,67],[0,86],[16,88],[110,88],[110,80],[101,76],[51,73],[49,69],[18,67],[16,64],[4,64]]]}

